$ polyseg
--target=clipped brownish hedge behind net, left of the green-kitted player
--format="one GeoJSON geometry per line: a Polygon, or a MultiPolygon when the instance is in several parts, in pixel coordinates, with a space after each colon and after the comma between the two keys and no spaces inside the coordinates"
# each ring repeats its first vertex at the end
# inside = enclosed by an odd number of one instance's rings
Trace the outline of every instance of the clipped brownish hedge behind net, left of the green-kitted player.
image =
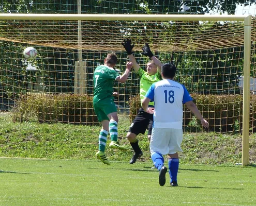
{"type": "Polygon", "coordinates": [[[13,122],[98,124],[93,97],[80,94],[21,95],[12,114],[13,122]]]}

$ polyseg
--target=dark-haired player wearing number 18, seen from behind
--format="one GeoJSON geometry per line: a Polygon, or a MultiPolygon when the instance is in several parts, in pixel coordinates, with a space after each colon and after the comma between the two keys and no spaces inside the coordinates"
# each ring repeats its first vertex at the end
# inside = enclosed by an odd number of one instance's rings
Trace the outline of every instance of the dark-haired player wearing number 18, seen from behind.
{"type": "Polygon", "coordinates": [[[151,158],[159,170],[159,184],[165,184],[167,167],[164,166],[163,155],[169,157],[169,174],[171,186],[178,186],[178,151],[182,151],[180,144],[183,139],[183,104],[197,116],[201,124],[207,128],[208,122],[203,118],[197,106],[195,106],[187,89],[183,84],[174,81],[176,73],[175,65],[163,64],[161,75],[163,80],[153,83],[142,101],[143,109],[154,114],[152,136],[150,140],[151,158]],[[154,101],[155,108],[149,108],[150,101],[154,101]]]}

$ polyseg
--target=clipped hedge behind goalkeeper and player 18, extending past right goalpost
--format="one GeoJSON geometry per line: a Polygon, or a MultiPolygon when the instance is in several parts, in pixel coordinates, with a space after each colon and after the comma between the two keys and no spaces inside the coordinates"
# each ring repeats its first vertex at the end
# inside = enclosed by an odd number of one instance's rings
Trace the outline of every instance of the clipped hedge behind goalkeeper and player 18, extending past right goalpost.
{"type": "MultiPolygon", "coordinates": [[[[242,132],[243,123],[243,96],[237,95],[202,95],[191,94],[194,103],[203,117],[209,122],[208,131],[215,132],[242,132]]],[[[140,96],[131,98],[130,122],[138,113],[140,96]]],[[[256,96],[250,96],[250,126],[256,130],[256,96]]],[[[186,132],[202,132],[204,128],[198,119],[193,118],[192,112],[184,106],[183,129],[186,132]]]]}

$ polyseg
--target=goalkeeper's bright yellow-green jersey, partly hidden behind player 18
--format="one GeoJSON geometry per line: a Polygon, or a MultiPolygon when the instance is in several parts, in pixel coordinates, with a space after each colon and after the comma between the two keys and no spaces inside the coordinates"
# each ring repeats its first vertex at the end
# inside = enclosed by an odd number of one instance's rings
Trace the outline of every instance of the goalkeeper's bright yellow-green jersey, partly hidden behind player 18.
{"type": "MultiPolygon", "coordinates": [[[[147,72],[145,72],[144,70],[142,70],[142,68],[139,68],[139,71],[136,73],[141,81],[140,81],[140,97],[141,97],[141,102],[144,99],[147,90],[150,88],[150,86],[157,82],[160,81],[162,79],[161,75],[157,72],[155,75],[148,75],[147,72]]],[[[154,102],[149,102],[149,105],[154,106],[154,102]]]]}

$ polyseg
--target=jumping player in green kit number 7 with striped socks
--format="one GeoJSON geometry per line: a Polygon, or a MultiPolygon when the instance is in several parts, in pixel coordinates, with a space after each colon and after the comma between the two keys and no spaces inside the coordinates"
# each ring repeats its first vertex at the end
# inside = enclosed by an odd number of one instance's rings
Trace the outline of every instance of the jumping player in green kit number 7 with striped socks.
{"type": "Polygon", "coordinates": [[[104,164],[110,165],[109,160],[105,156],[105,148],[107,143],[107,136],[110,133],[110,148],[126,149],[124,146],[117,142],[117,110],[114,103],[114,96],[118,93],[113,93],[113,81],[124,83],[131,71],[132,63],[126,64],[126,70],[123,75],[119,75],[114,69],[117,62],[117,56],[114,53],[108,54],[104,60],[104,65],[97,66],[94,71],[94,97],[93,107],[98,117],[99,122],[102,124],[102,129],[99,134],[99,151],[96,157],[104,164]]]}

